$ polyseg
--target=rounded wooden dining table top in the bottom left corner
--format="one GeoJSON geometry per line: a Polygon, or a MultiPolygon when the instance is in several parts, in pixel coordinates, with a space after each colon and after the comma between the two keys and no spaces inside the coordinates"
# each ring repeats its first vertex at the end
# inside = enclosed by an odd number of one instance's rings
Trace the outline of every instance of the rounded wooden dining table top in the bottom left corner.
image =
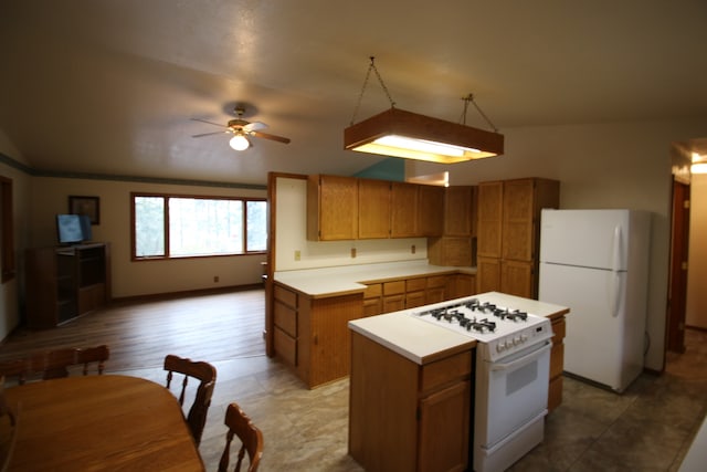
{"type": "Polygon", "coordinates": [[[150,380],[76,376],[6,389],[10,471],[204,471],[175,396],[150,380]]]}

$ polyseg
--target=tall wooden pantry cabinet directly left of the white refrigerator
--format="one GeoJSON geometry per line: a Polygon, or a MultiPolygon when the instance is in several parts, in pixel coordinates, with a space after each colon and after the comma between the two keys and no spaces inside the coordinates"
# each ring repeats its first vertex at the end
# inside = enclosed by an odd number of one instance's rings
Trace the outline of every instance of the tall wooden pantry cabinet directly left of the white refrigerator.
{"type": "Polygon", "coordinates": [[[477,289],[537,298],[540,210],[558,208],[557,180],[481,182],[477,200],[477,289]]]}

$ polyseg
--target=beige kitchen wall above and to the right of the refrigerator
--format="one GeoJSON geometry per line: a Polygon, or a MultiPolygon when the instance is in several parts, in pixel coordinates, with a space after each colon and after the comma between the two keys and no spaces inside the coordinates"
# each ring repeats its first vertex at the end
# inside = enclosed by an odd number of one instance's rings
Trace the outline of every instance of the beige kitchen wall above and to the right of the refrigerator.
{"type": "MultiPolygon", "coordinates": [[[[450,171],[451,185],[546,177],[560,180],[561,208],[633,208],[653,213],[646,367],[664,366],[669,256],[671,144],[705,136],[707,120],[610,123],[502,129],[502,157],[443,167],[414,162],[408,175],[450,171]]],[[[571,314],[569,315],[571,316],[571,314]]]]}

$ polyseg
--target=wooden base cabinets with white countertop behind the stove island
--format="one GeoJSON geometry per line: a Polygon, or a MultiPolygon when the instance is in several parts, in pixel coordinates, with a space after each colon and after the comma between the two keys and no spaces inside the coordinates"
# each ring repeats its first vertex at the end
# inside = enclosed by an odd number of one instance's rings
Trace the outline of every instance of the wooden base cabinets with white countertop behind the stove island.
{"type": "Polygon", "coordinates": [[[273,354],[308,388],[346,377],[349,321],[472,295],[474,277],[474,268],[426,260],[275,272],[266,295],[273,354]]]}

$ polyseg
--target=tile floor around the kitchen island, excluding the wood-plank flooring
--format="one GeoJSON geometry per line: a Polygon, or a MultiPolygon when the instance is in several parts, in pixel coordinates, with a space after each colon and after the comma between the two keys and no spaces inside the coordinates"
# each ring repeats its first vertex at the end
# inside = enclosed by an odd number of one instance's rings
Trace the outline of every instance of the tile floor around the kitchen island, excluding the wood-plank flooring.
{"type": "MultiPolygon", "coordinates": [[[[623,395],[566,378],[545,441],[511,471],[677,471],[707,410],[707,333],[688,331],[687,346],[669,356],[665,374],[644,374],[623,395]]],[[[200,448],[209,471],[218,469],[233,400],[263,431],[260,470],[362,470],[347,455],[348,380],[307,390],[264,356],[214,365],[219,379],[200,448]]],[[[124,374],[163,381],[161,368],[124,374]]]]}

